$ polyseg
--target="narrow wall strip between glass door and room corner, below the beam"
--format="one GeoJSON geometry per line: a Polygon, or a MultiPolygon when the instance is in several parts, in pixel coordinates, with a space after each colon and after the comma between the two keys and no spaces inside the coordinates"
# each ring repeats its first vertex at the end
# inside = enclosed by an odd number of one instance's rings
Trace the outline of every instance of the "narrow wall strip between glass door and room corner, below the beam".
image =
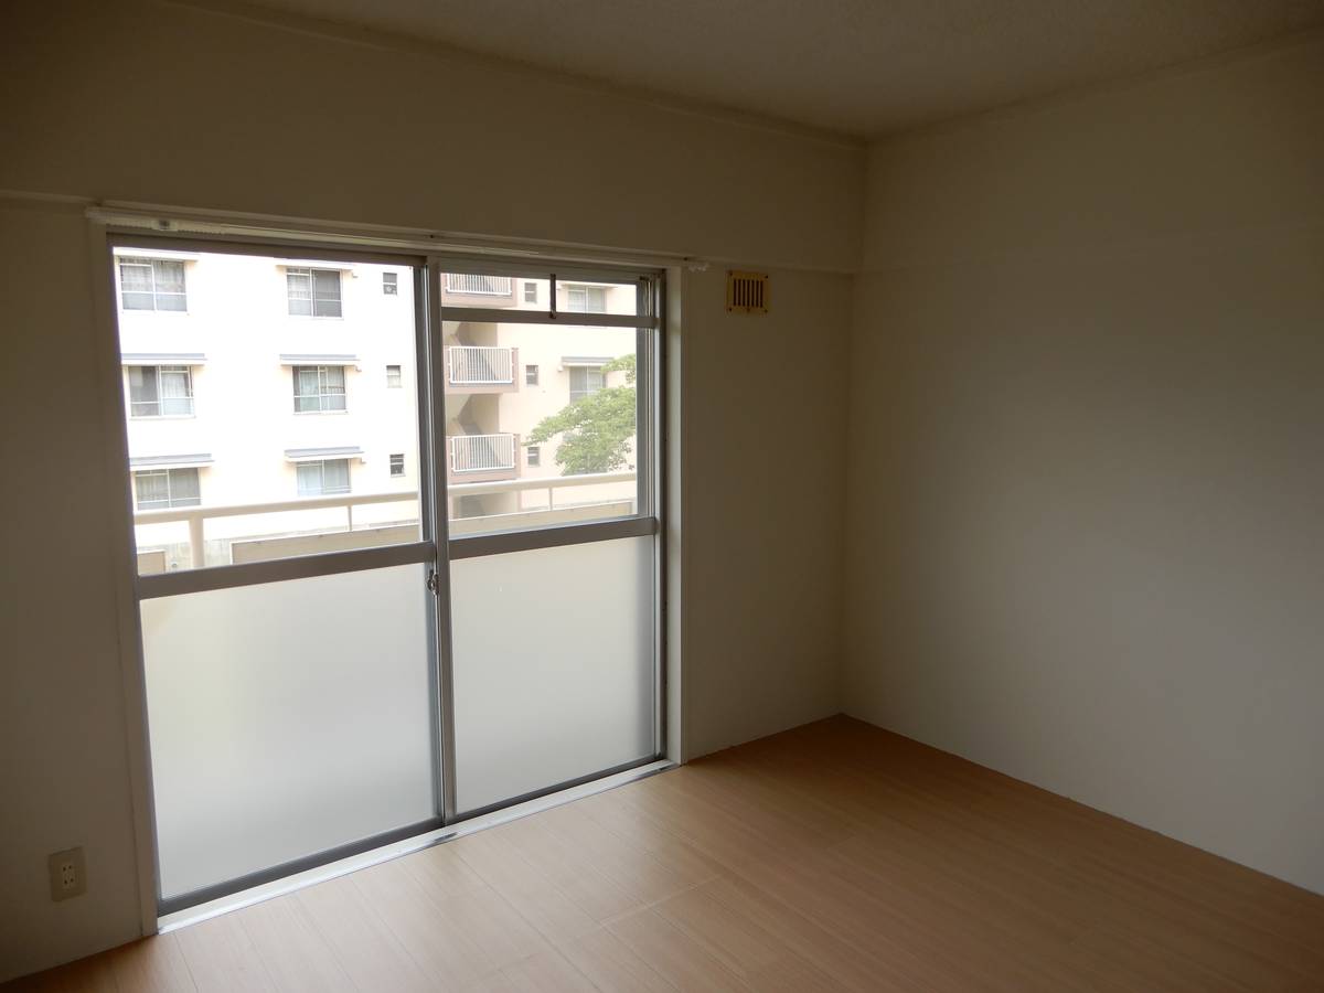
{"type": "Polygon", "coordinates": [[[685,719],[691,755],[841,710],[851,278],[773,270],[767,316],[685,281],[685,719]]]}

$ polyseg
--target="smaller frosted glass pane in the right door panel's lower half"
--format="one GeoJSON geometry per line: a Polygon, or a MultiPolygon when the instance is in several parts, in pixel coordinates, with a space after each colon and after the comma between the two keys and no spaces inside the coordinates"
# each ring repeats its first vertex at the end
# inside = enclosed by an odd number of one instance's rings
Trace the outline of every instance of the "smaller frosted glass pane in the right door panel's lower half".
{"type": "Polygon", "coordinates": [[[461,810],[643,759],[653,539],[450,565],[461,810]]]}

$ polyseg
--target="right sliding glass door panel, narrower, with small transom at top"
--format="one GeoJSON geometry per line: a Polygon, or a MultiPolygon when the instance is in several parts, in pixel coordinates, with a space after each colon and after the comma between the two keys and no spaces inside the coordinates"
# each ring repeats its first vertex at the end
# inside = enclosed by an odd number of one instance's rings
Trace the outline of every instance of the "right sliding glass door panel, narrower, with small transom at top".
{"type": "Polygon", "coordinates": [[[440,279],[458,813],[658,752],[657,294],[440,279]]]}

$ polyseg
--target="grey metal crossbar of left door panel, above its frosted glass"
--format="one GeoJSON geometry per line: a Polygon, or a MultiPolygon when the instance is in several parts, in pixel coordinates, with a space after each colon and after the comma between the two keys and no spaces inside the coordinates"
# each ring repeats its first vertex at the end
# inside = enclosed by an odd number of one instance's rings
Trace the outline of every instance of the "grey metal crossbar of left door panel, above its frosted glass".
{"type": "Polygon", "coordinates": [[[180,569],[138,577],[138,597],[180,596],[183,593],[203,593],[209,589],[230,589],[232,587],[253,587],[260,583],[283,583],[314,576],[335,576],[342,572],[363,569],[385,569],[392,565],[414,563],[436,563],[437,547],[432,542],[410,542],[408,544],[388,544],[377,548],[354,548],[344,552],[323,555],[301,555],[294,559],[273,559],[271,561],[241,563],[237,565],[212,565],[205,569],[180,569]]]}

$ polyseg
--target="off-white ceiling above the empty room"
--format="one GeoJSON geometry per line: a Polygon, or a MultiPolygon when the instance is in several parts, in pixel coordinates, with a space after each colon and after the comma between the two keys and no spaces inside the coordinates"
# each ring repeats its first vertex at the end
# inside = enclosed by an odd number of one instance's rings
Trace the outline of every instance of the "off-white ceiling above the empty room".
{"type": "Polygon", "coordinates": [[[1324,24],[1324,0],[260,0],[861,136],[1324,24]]]}

